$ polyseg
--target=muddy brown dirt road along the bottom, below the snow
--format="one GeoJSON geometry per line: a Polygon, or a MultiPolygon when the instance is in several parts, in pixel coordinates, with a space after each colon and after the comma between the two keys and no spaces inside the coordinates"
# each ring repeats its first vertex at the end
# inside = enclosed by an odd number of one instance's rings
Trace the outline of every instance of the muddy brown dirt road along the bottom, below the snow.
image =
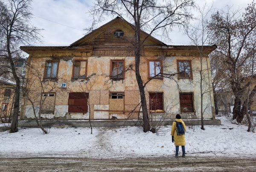
{"type": "Polygon", "coordinates": [[[255,172],[256,158],[0,158],[0,172],[255,172]]]}

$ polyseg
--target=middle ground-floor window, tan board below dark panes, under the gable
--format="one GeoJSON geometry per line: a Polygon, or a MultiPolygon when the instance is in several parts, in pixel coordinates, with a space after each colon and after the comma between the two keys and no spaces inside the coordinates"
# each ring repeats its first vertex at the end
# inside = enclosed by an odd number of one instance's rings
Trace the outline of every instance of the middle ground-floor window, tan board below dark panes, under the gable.
{"type": "Polygon", "coordinates": [[[109,110],[109,113],[124,113],[124,93],[110,94],[109,110]]]}

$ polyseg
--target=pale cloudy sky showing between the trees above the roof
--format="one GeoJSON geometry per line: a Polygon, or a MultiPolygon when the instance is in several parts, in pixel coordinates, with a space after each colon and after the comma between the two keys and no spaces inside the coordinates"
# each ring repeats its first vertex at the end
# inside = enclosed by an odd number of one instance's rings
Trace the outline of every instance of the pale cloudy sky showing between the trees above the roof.
{"type": "MultiPolygon", "coordinates": [[[[70,45],[83,37],[86,33],[83,29],[91,25],[91,17],[87,12],[93,6],[93,1],[33,0],[32,14],[34,14],[34,18],[32,19],[32,24],[44,29],[41,31],[42,42],[35,45],[70,45]]],[[[213,3],[213,8],[215,9],[225,8],[227,5],[232,6],[233,9],[244,8],[248,3],[252,2],[252,0],[195,0],[198,4],[204,4],[205,1],[209,3],[209,6],[213,3]]],[[[169,37],[171,42],[162,41],[169,45],[189,44],[189,39],[177,28],[174,28],[169,37]]],[[[161,40],[161,37],[157,37],[157,39],[161,40]]]]}

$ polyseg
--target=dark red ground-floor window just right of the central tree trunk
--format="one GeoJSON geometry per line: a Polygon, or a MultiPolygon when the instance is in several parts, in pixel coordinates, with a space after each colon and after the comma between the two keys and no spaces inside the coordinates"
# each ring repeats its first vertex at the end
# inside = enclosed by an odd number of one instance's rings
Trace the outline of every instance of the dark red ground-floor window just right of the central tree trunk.
{"type": "Polygon", "coordinates": [[[149,93],[150,110],[163,110],[163,93],[149,93]]]}

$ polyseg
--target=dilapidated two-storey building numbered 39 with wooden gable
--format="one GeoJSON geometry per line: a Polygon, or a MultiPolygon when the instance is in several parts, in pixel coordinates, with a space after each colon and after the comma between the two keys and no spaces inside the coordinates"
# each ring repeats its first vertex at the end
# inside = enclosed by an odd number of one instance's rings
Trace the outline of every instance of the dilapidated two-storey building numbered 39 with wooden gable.
{"type": "MultiPolygon", "coordinates": [[[[201,118],[200,56],[195,46],[166,45],[141,31],[140,74],[154,118],[201,118]],[[147,39],[145,39],[147,37],[147,39]],[[173,77],[164,77],[172,73],[173,77]],[[176,73],[176,74],[175,74],[176,73]]],[[[29,54],[21,118],[138,119],[134,26],[117,17],[70,46],[22,46],[29,54]],[[33,106],[35,107],[33,110],[33,106]]],[[[211,71],[203,47],[204,118],[214,118],[211,71]]]]}

